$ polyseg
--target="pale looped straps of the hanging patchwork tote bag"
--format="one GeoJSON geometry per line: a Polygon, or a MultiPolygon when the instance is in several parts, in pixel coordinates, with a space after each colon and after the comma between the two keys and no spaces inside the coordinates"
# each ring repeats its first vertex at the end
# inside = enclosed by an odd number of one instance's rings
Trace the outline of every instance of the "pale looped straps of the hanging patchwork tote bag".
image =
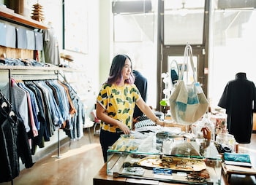
{"type": "MultiPolygon", "coordinates": [[[[181,66],[181,74],[178,77],[178,80],[183,79],[185,64],[187,64],[187,67],[188,67],[188,63],[189,63],[188,60],[190,60],[190,66],[192,67],[194,82],[197,82],[196,75],[195,75],[195,66],[194,66],[194,62],[193,62],[192,47],[189,44],[187,44],[187,46],[185,47],[185,50],[184,50],[184,61],[181,66]]],[[[188,68],[187,68],[187,70],[188,70],[188,68]]],[[[188,82],[188,80],[187,80],[187,82],[188,82]]]]}

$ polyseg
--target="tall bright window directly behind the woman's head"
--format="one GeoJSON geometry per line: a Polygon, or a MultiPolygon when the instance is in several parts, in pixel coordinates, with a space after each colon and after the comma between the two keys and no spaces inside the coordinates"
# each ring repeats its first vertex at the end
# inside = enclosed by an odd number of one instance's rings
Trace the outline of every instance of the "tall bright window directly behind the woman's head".
{"type": "Polygon", "coordinates": [[[112,1],[113,55],[124,53],[148,79],[147,104],[157,102],[157,0],[112,1]],[[152,67],[155,66],[155,67],[152,67]]]}

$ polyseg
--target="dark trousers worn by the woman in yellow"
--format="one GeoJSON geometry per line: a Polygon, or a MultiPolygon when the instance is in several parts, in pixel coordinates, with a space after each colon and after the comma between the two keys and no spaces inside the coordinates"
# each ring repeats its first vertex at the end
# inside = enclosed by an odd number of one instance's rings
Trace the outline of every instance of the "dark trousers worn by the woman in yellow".
{"type": "Polygon", "coordinates": [[[121,134],[124,133],[110,133],[106,130],[100,130],[100,134],[99,134],[99,142],[102,146],[102,153],[103,153],[103,157],[104,157],[104,162],[108,161],[108,148],[109,146],[112,146],[113,143],[115,143],[118,138],[120,137],[121,134]]]}

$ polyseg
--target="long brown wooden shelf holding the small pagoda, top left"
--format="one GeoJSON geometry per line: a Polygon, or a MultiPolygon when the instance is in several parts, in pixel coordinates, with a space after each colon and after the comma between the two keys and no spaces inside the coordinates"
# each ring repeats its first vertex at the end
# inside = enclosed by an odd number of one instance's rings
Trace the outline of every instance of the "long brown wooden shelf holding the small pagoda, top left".
{"type": "Polygon", "coordinates": [[[10,12],[7,8],[0,7],[0,17],[3,20],[7,20],[11,23],[16,23],[18,25],[24,25],[30,28],[39,28],[39,29],[47,29],[48,26],[40,23],[37,20],[33,20],[28,17],[24,17],[23,15],[16,14],[14,12],[10,12]]]}

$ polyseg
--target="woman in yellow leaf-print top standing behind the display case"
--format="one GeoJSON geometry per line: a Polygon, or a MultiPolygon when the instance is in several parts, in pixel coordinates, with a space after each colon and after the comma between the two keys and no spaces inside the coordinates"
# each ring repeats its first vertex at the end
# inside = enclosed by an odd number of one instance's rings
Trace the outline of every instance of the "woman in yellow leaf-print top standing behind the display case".
{"type": "Polygon", "coordinates": [[[104,161],[107,162],[108,147],[121,134],[129,134],[132,129],[132,115],[135,104],[157,125],[165,126],[146,105],[134,84],[132,63],[127,55],[113,58],[108,81],[102,85],[97,97],[97,118],[102,120],[99,141],[104,161]]]}

